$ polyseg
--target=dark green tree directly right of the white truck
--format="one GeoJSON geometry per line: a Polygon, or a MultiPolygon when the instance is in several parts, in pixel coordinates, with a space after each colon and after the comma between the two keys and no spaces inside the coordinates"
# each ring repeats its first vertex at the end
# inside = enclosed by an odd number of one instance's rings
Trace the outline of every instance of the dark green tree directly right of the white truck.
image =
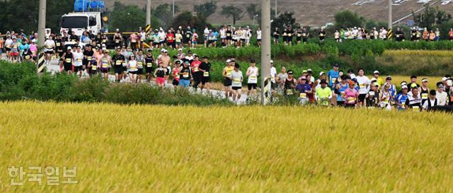
{"type": "Polygon", "coordinates": [[[118,28],[121,31],[137,31],[145,22],[146,13],[142,8],[135,5],[125,6],[116,1],[110,13],[109,27],[110,30],[118,28]]]}

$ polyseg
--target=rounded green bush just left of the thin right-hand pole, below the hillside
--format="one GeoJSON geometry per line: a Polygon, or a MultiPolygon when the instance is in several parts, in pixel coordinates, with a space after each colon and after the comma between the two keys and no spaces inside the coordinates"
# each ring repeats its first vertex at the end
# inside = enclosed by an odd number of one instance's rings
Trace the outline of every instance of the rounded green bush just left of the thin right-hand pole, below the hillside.
{"type": "Polygon", "coordinates": [[[337,29],[360,27],[366,22],[364,17],[359,16],[357,13],[352,13],[352,11],[349,10],[336,13],[334,18],[335,27],[337,29]]]}

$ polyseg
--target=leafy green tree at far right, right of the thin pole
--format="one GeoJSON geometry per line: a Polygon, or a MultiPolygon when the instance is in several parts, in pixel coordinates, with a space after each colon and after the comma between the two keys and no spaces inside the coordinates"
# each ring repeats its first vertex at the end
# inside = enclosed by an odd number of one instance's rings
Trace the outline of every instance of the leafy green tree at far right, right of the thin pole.
{"type": "Polygon", "coordinates": [[[448,22],[452,15],[440,11],[439,7],[431,7],[430,4],[425,4],[425,11],[419,14],[413,14],[413,21],[416,25],[431,29],[433,25],[442,25],[448,22]]]}

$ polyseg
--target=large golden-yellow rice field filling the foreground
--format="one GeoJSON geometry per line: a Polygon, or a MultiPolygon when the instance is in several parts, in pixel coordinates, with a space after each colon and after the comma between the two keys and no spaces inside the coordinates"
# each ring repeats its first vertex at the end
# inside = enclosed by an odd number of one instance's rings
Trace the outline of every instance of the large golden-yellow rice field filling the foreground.
{"type": "Polygon", "coordinates": [[[453,192],[442,113],[17,102],[0,114],[1,192],[453,192]],[[79,183],[12,187],[12,165],[76,166],[79,183]]]}

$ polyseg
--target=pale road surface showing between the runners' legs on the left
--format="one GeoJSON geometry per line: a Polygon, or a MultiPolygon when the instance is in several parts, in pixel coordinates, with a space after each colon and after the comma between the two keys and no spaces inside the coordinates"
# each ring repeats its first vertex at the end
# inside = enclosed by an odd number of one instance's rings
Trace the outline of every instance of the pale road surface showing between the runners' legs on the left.
{"type": "MultiPolygon", "coordinates": [[[[5,58],[6,58],[5,54],[1,54],[1,59],[5,59],[5,58]]],[[[50,71],[52,74],[55,74],[55,73],[59,72],[58,59],[52,59],[52,61],[50,62],[50,65],[47,65],[46,68],[47,68],[47,71],[50,71]]],[[[88,78],[88,77],[89,76],[86,73],[84,73],[84,75],[82,76],[82,78],[88,78]]],[[[114,75],[109,75],[108,76],[108,80],[110,82],[115,82],[115,76],[114,75]]],[[[126,82],[127,81],[128,81],[128,79],[126,80],[126,82]]],[[[154,82],[151,83],[151,84],[154,85],[154,86],[156,85],[154,82]]],[[[171,85],[171,83],[169,83],[169,84],[166,85],[166,88],[173,89],[173,86],[171,85]]],[[[190,88],[190,90],[195,92],[195,90],[193,90],[193,88],[190,88]]],[[[246,93],[245,91],[246,90],[243,90],[243,93],[246,93]]],[[[201,93],[200,90],[197,91],[197,93],[201,93]]],[[[225,92],[222,91],[222,90],[211,90],[211,93],[212,93],[212,95],[215,95],[215,96],[219,95],[219,96],[222,96],[222,98],[225,97],[225,92]]],[[[231,100],[231,98],[229,98],[229,100],[231,100]]],[[[243,94],[243,95],[241,95],[241,98],[237,101],[236,104],[238,104],[238,105],[244,104],[244,103],[246,103],[246,100],[247,100],[247,95],[243,94]]]]}

